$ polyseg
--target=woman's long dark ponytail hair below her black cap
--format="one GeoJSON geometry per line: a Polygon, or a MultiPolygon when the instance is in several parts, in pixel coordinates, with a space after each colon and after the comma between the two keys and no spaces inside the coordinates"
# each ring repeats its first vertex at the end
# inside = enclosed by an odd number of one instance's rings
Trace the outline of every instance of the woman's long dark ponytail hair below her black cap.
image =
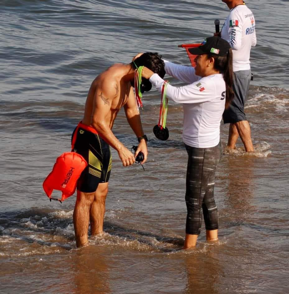
{"type": "Polygon", "coordinates": [[[225,108],[227,109],[234,98],[233,82],[234,82],[234,72],[233,72],[233,52],[230,48],[227,52],[227,56],[216,56],[208,54],[208,58],[213,57],[214,69],[220,71],[223,74],[226,83],[226,103],[225,108]]]}

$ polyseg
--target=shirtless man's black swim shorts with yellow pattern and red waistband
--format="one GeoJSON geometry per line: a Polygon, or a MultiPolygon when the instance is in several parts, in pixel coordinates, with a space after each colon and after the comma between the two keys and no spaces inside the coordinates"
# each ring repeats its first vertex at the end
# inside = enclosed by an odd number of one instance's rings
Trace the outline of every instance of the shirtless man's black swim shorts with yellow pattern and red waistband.
{"type": "Polygon", "coordinates": [[[87,167],[81,173],[77,190],[95,192],[99,183],[107,183],[110,178],[111,153],[110,145],[103,140],[91,126],[80,122],[72,133],[71,149],[82,155],[87,167]]]}

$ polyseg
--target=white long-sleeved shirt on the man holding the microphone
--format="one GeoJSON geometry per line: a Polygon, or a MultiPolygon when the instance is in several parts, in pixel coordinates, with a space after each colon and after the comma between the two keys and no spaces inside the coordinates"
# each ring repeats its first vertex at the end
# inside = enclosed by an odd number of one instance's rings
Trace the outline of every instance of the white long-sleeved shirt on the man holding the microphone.
{"type": "Polygon", "coordinates": [[[249,70],[251,46],[256,46],[257,39],[254,15],[246,5],[237,5],[231,9],[221,30],[221,37],[233,49],[233,71],[249,70]]]}

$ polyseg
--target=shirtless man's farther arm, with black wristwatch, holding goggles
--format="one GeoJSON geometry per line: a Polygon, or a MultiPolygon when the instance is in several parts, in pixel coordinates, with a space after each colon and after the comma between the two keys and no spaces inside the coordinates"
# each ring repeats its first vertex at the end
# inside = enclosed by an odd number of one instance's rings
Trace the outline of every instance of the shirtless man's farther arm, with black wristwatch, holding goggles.
{"type": "MultiPolygon", "coordinates": [[[[142,130],[142,122],[141,117],[137,109],[135,97],[133,94],[133,88],[130,89],[129,95],[128,95],[128,101],[126,104],[124,104],[124,111],[126,118],[128,120],[128,123],[132,130],[134,131],[135,135],[137,137],[143,136],[143,130],[142,130]]],[[[147,142],[145,139],[141,139],[138,144],[138,149],[136,150],[134,156],[136,157],[139,152],[142,152],[144,155],[144,159],[141,162],[142,164],[146,162],[147,160],[147,142]]]]}

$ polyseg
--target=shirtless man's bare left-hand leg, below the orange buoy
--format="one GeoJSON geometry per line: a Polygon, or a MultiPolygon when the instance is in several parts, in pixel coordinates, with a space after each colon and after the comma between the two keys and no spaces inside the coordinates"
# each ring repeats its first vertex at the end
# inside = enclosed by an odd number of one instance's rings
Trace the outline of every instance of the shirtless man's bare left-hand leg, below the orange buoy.
{"type": "Polygon", "coordinates": [[[77,199],[73,211],[73,225],[77,247],[87,243],[89,209],[93,199],[94,193],[84,193],[77,190],[77,199]]]}

